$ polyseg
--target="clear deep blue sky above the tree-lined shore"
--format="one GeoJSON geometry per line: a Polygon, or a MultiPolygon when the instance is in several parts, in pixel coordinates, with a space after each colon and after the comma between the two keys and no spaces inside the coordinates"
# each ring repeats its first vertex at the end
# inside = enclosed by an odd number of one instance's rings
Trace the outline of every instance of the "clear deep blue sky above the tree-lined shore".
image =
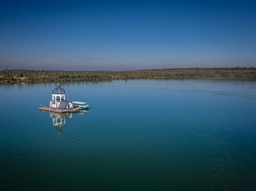
{"type": "Polygon", "coordinates": [[[0,69],[256,66],[256,1],[0,1],[0,69]]]}

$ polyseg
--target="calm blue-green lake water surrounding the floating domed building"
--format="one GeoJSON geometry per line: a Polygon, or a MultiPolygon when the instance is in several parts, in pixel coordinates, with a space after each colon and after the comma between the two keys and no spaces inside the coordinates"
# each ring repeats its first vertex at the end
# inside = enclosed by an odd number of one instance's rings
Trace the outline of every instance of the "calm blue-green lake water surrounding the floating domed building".
{"type": "Polygon", "coordinates": [[[256,82],[0,85],[1,190],[256,190],[256,82]],[[62,125],[58,125],[61,124],[62,125]]]}

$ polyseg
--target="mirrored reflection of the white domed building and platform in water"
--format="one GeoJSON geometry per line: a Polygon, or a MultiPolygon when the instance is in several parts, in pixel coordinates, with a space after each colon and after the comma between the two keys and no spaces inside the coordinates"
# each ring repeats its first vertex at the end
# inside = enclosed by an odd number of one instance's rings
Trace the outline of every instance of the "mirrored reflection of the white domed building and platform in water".
{"type": "Polygon", "coordinates": [[[80,110],[78,113],[55,113],[49,112],[49,116],[52,118],[52,125],[58,132],[58,135],[61,135],[62,130],[66,125],[66,120],[71,119],[75,114],[84,115],[85,113],[89,113],[89,110],[80,110]]]}

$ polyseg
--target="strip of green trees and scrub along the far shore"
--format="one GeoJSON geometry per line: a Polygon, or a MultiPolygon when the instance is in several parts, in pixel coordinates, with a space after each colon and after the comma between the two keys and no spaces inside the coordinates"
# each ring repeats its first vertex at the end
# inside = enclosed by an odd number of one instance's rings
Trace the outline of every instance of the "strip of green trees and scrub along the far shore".
{"type": "Polygon", "coordinates": [[[228,78],[256,81],[256,68],[172,68],[138,71],[0,71],[0,83],[98,82],[128,79],[228,78]]]}

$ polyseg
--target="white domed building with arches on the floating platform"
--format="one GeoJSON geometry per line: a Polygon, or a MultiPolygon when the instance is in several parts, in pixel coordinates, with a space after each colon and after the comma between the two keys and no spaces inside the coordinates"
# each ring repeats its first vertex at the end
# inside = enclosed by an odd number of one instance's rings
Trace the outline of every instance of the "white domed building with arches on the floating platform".
{"type": "Polygon", "coordinates": [[[57,85],[52,91],[52,100],[50,101],[49,106],[54,109],[73,108],[72,102],[65,99],[65,90],[61,88],[61,85],[57,85]]]}

